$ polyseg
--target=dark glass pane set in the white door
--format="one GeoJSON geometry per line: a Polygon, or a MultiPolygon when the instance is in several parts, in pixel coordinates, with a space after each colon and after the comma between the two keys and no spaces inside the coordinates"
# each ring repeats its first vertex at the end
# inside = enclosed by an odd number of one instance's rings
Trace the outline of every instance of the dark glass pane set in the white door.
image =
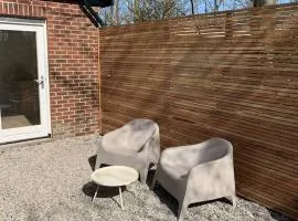
{"type": "Polygon", "coordinates": [[[36,32],[0,30],[0,129],[41,124],[36,32]]]}

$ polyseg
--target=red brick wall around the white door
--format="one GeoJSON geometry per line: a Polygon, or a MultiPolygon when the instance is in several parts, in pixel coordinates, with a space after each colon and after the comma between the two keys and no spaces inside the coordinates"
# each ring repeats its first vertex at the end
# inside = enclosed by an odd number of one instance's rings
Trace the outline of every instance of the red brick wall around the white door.
{"type": "Polygon", "coordinates": [[[98,30],[76,1],[0,0],[0,15],[47,23],[54,137],[99,131],[98,30]]]}

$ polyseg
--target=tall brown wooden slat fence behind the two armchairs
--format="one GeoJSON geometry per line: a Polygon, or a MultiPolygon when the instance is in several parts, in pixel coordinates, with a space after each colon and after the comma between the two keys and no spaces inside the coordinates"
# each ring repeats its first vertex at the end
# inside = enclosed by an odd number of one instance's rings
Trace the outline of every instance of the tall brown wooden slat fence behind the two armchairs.
{"type": "Polygon", "coordinates": [[[100,30],[103,131],[231,140],[240,196],[298,218],[298,4],[100,30]]]}

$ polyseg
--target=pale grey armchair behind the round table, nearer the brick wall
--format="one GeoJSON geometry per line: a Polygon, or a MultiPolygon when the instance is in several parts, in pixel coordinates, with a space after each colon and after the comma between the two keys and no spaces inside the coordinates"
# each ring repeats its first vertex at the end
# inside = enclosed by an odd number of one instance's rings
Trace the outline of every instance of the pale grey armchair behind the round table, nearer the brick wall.
{"type": "Polygon", "coordinates": [[[140,172],[140,181],[146,183],[149,165],[158,164],[159,157],[158,125],[149,119],[134,119],[103,137],[95,169],[100,164],[129,166],[140,172]]]}

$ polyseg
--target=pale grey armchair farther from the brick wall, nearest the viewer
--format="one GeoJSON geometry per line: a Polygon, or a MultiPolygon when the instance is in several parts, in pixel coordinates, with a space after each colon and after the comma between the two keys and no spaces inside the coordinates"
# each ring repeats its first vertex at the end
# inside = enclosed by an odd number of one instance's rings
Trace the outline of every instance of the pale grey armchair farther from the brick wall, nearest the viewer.
{"type": "Polygon", "coordinates": [[[158,181],[179,202],[182,221],[190,203],[232,197],[235,204],[233,146],[212,138],[162,151],[151,189],[158,181]]]}

